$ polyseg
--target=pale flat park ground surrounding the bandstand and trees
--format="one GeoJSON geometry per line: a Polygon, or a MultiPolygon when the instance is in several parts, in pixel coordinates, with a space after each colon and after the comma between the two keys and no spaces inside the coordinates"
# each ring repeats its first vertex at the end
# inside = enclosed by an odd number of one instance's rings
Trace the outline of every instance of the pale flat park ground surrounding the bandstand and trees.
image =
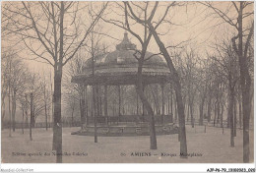
{"type": "MultiPolygon", "coordinates": [[[[235,146],[230,147],[230,130],[204,126],[187,131],[187,159],[179,157],[177,135],[158,136],[158,149],[151,150],[148,136],[94,137],[71,135],[80,128],[63,128],[64,163],[242,163],[242,131],[237,129],[235,146]],[[193,154],[195,154],[193,156],[193,154]]],[[[253,162],[253,131],[250,131],[250,160],[253,162]]],[[[9,138],[7,129],[2,131],[2,163],[54,163],[52,129],[33,129],[22,134],[17,129],[9,138]],[[23,153],[25,155],[19,155],[23,153]]]]}

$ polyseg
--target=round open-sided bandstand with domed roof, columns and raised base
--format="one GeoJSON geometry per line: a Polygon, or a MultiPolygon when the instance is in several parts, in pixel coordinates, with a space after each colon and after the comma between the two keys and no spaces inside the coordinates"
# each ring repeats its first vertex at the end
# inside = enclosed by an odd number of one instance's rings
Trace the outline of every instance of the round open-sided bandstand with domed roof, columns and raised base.
{"type": "MultiPolygon", "coordinates": [[[[95,87],[96,95],[98,88],[103,88],[103,111],[99,114],[95,111],[95,116],[87,116],[85,124],[81,131],[73,133],[74,135],[89,135],[93,136],[96,133],[98,136],[136,136],[149,135],[149,118],[145,108],[142,105],[142,113],[138,111],[138,95],[137,95],[137,112],[135,115],[124,115],[121,113],[121,86],[136,86],[138,61],[134,57],[134,49],[136,45],[128,39],[128,34],[125,32],[123,40],[116,45],[116,50],[106,53],[102,56],[96,56],[86,61],[82,73],[77,74],[72,78],[72,83],[87,87],[95,87]],[[94,59],[94,61],[93,61],[94,59]],[[118,92],[118,112],[117,115],[111,115],[108,111],[108,87],[117,87],[118,92]]],[[[151,52],[146,53],[147,59],[143,66],[143,86],[160,85],[161,95],[161,114],[155,115],[156,133],[173,134],[177,133],[177,128],[173,124],[172,115],[164,115],[164,86],[170,82],[170,73],[164,59],[151,52]],[[149,59],[147,59],[150,57],[149,59]]],[[[135,89],[135,87],[134,87],[135,89]]],[[[95,99],[96,100],[96,99],[95,99]]],[[[95,102],[92,99],[92,102],[95,102]]],[[[89,100],[88,100],[89,101],[89,100]]],[[[96,109],[98,108],[98,102],[96,109]]],[[[98,109],[97,109],[98,110],[98,109]]]]}

